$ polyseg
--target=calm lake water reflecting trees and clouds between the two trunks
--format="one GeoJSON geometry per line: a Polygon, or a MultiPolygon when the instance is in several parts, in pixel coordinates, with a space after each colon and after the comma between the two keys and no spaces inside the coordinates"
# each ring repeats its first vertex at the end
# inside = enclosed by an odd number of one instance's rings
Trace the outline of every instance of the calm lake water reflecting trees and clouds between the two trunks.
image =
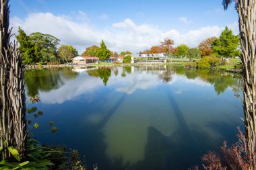
{"type": "Polygon", "coordinates": [[[40,96],[35,105],[44,112],[33,120],[36,138],[79,150],[88,169],[179,170],[236,141],[242,82],[241,75],[179,67],[66,68],[29,71],[26,93],[40,96]],[[40,133],[50,120],[57,134],[40,133]]]}

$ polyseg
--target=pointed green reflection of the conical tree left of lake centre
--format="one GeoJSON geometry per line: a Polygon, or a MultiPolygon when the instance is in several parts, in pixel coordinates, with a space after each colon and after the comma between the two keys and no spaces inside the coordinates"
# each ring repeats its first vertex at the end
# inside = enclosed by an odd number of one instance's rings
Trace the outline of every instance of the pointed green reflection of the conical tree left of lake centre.
{"type": "Polygon", "coordinates": [[[111,76],[111,70],[108,68],[100,68],[96,70],[87,71],[88,75],[93,77],[100,77],[103,80],[104,85],[108,82],[108,78],[111,76]]]}

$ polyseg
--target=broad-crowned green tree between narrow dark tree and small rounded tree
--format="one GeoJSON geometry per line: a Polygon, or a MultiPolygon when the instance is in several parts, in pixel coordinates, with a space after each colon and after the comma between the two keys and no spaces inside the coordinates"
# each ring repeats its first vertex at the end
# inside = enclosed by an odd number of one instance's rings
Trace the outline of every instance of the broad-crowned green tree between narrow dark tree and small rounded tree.
{"type": "Polygon", "coordinates": [[[58,38],[50,34],[34,32],[30,34],[30,40],[35,46],[37,58],[40,58],[40,60],[42,60],[42,58],[56,58],[57,45],[59,45],[58,38]]]}

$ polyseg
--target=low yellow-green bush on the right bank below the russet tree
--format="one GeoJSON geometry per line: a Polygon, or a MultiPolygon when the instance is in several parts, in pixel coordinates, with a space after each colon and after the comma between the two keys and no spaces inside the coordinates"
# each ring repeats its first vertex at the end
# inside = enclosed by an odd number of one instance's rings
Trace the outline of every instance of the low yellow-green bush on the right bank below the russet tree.
{"type": "Polygon", "coordinates": [[[216,56],[204,56],[197,62],[197,67],[199,68],[213,68],[220,65],[221,60],[216,56]]]}

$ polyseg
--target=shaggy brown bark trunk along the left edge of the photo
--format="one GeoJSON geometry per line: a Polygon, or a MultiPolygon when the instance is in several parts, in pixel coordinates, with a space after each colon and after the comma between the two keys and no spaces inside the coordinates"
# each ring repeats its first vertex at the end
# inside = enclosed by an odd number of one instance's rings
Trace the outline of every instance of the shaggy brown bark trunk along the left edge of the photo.
{"type": "Polygon", "coordinates": [[[18,44],[10,43],[8,0],[0,6],[0,144],[3,159],[10,159],[7,146],[15,147],[26,159],[26,99],[24,73],[18,44]]]}

